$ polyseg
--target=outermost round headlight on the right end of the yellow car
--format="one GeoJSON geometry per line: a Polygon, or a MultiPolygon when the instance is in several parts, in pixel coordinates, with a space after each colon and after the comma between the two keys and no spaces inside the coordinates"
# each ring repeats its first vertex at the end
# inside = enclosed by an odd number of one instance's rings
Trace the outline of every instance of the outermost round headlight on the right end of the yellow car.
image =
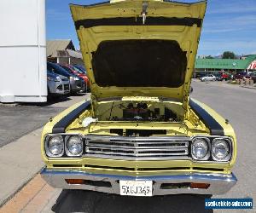
{"type": "Polygon", "coordinates": [[[212,158],[217,161],[229,160],[231,156],[229,141],[217,138],[212,141],[212,158]]]}

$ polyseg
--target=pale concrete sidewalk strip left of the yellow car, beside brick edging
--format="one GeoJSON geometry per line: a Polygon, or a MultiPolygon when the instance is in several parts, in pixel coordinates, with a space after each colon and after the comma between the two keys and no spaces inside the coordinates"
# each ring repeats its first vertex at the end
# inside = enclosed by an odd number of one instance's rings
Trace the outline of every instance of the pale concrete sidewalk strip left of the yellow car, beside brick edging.
{"type": "Polygon", "coordinates": [[[0,207],[26,186],[44,167],[41,158],[42,128],[0,148],[0,207]]]}

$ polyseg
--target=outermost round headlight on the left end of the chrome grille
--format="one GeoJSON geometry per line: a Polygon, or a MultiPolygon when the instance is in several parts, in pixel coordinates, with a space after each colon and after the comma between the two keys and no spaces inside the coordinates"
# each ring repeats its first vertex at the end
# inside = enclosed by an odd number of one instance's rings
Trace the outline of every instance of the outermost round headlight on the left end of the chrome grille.
{"type": "Polygon", "coordinates": [[[61,136],[50,137],[46,142],[46,154],[49,157],[61,157],[64,153],[64,141],[61,136]]]}

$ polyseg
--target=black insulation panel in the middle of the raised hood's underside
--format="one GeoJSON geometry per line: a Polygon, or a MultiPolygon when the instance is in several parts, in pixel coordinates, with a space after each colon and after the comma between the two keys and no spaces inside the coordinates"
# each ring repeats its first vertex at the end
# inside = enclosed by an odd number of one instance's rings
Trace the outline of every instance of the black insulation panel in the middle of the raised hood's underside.
{"type": "Polygon", "coordinates": [[[186,66],[186,53],[168,40],[104,41],[92,59],[101,87],[179,87],[186,66]]]}

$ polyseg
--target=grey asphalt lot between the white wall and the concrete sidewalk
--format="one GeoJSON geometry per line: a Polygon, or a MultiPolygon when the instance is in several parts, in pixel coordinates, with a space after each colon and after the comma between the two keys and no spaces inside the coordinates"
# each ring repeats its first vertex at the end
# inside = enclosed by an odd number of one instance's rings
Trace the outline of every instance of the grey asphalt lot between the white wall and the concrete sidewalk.
{"type": "Polygon", "coordinates": [[[50,117],[86,97],[88,95],[59,97],[41,104],[0,105],[0,147],[44,126],[50,117]]]}

